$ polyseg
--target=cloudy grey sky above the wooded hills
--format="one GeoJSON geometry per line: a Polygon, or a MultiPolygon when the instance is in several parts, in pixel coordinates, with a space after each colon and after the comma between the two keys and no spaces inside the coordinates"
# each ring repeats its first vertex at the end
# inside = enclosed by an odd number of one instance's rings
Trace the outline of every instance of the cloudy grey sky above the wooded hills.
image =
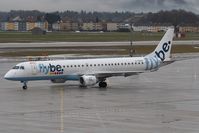
{"type": "Polygon", "coordinates": [[[0,0],[0,11],[132,11],[185,9],[199,14],[199,0],[0,0]]]}

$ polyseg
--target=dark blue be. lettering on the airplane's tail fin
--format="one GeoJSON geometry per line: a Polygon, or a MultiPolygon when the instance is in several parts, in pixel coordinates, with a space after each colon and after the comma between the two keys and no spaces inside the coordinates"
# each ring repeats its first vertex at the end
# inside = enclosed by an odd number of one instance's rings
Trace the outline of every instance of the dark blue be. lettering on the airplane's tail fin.
{"type": "Polygon", "coordinates": [[[168,43],[165,42],[162,45],[162,49],[160,51],[155,51],[155,54],[157,55],[157,57],[160,58],[162,61],[165,60],[165,56],[166,56],[165,54],[169,51],[170,44],[171,44],[171,41],[169,41],[168,43]]]}

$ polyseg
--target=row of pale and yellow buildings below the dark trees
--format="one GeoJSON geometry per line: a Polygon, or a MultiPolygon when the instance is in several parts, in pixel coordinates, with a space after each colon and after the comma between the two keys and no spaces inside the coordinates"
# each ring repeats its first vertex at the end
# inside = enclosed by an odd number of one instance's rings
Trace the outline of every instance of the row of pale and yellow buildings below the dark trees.
{"type": "MultiPolygon", "coordinates": [[[[128,23],[116,23],[116,22],[74,22],[68,18],[63,18],[61,21],[53,23],[52,30],[54,31],[128,31],[128,23]]],[[[166,31],[172,24],[154,24],[154,25],[133,25],[132,29],[136,32],[160,32],[166,31]]],[[[173,26],[172,26],[173,27],[173,26]]],[[[48,31],[49,24],[44,19],[38,21],[33,17],[28,17],[26,20],[15,17],[8,21],[0,22],[1,31],[31,31],[34,28],[40,28],[48,31]]],[[[178,31],[184,32],[199,32],[198,25],[179,25],[178,31]]]]}

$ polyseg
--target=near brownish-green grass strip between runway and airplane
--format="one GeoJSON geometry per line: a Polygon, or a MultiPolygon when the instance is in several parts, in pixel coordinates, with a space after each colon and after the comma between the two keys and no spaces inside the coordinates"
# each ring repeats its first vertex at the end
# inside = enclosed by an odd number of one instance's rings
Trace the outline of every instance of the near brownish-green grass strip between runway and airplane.
{"type": "MultiPolygon", "coordinates": [[[[145,55],[152,52],[156,46],[146,45],[146,46],[134,46],[135,54],[145,55]]],[[[48,56],[56,54],[83,54],[83,55],[129,55],[128,46],[106,46],[106,47],[79,47],[79,48],[70,48],[70,47],[60,47],[55,51],[51,48],[48,49],[33,49],[33,50],[11,50],[4,51],[0,53],[0,56],[4,57],[15,57],[15,56],[48,56]],[[79,50],[86,49],[86,50],[79,50]],[[106,50],[104,50],[106,49],[106,50]]],[[[174,45],[172,47],[172,53],[194,53],[199,52],[199,48],[195,48],[191,45],[174,45]]]]}

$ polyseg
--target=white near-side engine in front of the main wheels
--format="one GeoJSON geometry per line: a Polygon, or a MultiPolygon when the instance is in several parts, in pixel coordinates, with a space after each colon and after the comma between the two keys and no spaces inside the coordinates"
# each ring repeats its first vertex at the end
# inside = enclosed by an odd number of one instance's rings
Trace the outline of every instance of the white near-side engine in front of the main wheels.
{"type": "Polygon", "coordinates": [[[98,82],[97,78],[91,75],[83,75],[80,77],[79,81],[80,81],[80,84],[83,86],[92,86],[98,82]]]}

